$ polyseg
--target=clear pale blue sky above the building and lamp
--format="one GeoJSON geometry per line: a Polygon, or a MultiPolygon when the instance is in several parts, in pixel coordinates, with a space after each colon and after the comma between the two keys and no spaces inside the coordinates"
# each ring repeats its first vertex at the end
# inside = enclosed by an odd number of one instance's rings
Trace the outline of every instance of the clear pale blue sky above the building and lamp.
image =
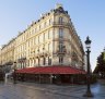
{"type": "Polygon", "coordinates": [[[23,32],[40,13],[61,3],[70,14],[78,35],[84,45],[92,40],[91,65],[105,47],[105,0],[0,0],[0,46],[23,32]]]}

